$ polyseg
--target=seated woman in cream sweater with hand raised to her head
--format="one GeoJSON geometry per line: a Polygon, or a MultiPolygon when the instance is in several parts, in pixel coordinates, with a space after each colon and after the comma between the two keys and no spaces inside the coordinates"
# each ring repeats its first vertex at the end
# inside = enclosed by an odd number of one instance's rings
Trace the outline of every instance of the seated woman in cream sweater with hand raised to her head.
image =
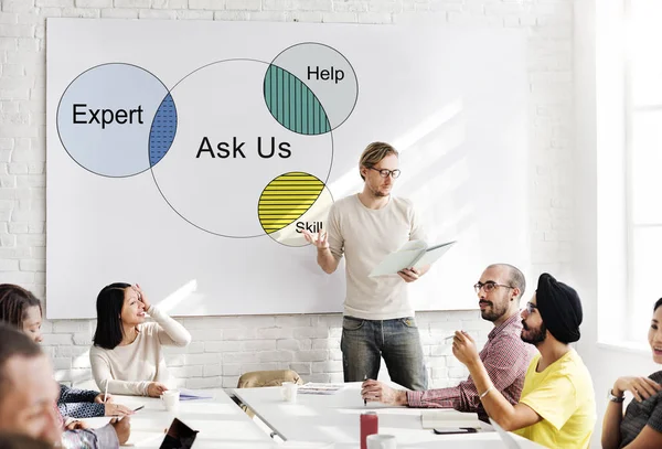
{"type": "Polygon", "coordinates": [[[189,331],[151,304],[138,285],[116,282],[99,292],[89,361],[100,389],[160,396],[171,382],[161,346],[190,342],[189,331]],[[145,312],[154,322],[146,323],[145,312]]]}

